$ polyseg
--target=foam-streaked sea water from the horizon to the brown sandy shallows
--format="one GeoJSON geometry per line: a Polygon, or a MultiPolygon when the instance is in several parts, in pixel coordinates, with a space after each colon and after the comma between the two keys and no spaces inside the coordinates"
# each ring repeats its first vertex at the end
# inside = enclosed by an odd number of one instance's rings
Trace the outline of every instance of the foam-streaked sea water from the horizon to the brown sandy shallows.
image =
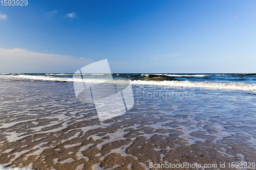
{"type": "Polygon", "coordinates": [[[73,83],[106,84],[104,74],[0,74],[0,168],[255,169],[256,74],[112,76],[130,81],[134,106],[100,121],[73,83]]]}

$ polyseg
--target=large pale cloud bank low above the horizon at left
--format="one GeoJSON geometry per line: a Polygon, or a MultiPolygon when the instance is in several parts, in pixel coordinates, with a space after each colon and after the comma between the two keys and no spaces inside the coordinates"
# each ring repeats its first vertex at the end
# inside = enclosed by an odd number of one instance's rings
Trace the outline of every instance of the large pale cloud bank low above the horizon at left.
{"type": "Polygon", "coordinates": [[[73,72],[92,59],[0,48],[0,72],[73,72]]]}

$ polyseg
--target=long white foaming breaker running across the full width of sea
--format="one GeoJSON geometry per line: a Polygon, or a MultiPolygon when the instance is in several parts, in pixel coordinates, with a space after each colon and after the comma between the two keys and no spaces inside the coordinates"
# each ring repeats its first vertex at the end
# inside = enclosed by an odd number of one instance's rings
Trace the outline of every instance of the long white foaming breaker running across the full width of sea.
{"type": "MultiPolygon", "coordinates": [[[[52,77],[52,76],[0,75],[0,77],[15,78],[15,79],[32,79],[32,80],[42,80],[42,81],[108,83],[106,80],[103,80],[103,79],[77,79],[77,78],[73,79],[73,78],[60,78],[60,77],[52,77]]],[[[126,81],[125,80],[115,80],[115,82],[123,83],[126,81]]],[[[256,85],[243,84],[243,83],[215,83],[215,82],[166,81],[166,80],[164,80],[164,81],[133,80],[133,81],[131,81],[131,84],[256,91],[256,85]]]]}

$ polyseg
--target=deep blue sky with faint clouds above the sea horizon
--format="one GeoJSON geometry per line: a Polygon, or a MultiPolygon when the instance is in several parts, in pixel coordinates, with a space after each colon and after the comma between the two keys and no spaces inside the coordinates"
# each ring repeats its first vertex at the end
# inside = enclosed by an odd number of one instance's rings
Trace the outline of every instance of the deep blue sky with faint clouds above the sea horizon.
{"type": "Polygon", "coordinates": [[[0,7],[0,72],[256,72],[256,1],[33,1],[0,7]]]}

